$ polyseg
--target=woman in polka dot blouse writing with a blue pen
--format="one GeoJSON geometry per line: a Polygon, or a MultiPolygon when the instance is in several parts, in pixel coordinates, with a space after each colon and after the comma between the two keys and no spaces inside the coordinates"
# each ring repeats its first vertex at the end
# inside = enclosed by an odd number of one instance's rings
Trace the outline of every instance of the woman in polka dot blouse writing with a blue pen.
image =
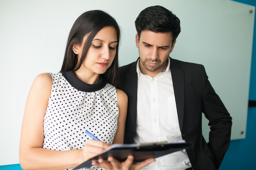
{"type": "MultiPolygon", "coordinates": [[[[124,142],[128,99],[115,88],[119,40],[117,22],[103,11],[87,11],[74,22],[61,72],[38,75],[29,91],[20,137],[24,170],[74,168],[124,142]],[[91,140],[85,130],[101,141],[91,140]]],[[[139,169],[150,163],[131,166],[132,159],[93,164],[139,169]]]]}

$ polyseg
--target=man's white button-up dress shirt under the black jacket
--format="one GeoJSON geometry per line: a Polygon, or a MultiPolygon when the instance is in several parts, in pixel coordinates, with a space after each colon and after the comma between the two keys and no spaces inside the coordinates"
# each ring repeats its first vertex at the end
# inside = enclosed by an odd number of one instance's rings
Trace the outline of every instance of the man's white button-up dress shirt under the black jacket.
{"type": "MultiPolygon", "coordinates": [[[[170,59],[164,71],[150,77],[141,73],[137,63],[137,135],[136,143],[177,142],[182,140],[178,121],[170,59]]],[[[177,151],[144,167],[144,170],[185,170],[191,163],[186,150],[177,151]]]]}

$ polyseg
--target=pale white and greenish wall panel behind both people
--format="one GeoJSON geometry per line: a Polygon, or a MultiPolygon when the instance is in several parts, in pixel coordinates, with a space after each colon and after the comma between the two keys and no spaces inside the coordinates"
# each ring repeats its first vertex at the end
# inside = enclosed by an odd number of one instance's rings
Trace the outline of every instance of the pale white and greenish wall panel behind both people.
{"type": "MultiPolygon", "coordinates": [[[[116,18],[122,29],[122,66],[138,57],[137,15],[158,4],[181,20],[182,31],[171,57],[204,64],[233,117],[232,139],[245,138],[255,7],[229,0],[0,0],[0,165],[19,163],[20,128],[29,88],[39,73],[60,70],[76,18],[92,9],[116,18]]],[[[208,137],[206,120],[203,128],[208,137]]]]}

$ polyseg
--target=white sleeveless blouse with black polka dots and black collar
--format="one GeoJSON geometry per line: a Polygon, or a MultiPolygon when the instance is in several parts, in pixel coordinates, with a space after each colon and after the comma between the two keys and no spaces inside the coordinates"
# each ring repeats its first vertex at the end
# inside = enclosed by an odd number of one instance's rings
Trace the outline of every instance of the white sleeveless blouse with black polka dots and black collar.
{"type": "Polygon", "coordinates": [[[112,143],[119,115],[116,88],[103,77],[97,84],[85,84],[71,71],[51,75],[43,148],[82,149],[92,139],[85,130],[107,144],[112,143]]]}

